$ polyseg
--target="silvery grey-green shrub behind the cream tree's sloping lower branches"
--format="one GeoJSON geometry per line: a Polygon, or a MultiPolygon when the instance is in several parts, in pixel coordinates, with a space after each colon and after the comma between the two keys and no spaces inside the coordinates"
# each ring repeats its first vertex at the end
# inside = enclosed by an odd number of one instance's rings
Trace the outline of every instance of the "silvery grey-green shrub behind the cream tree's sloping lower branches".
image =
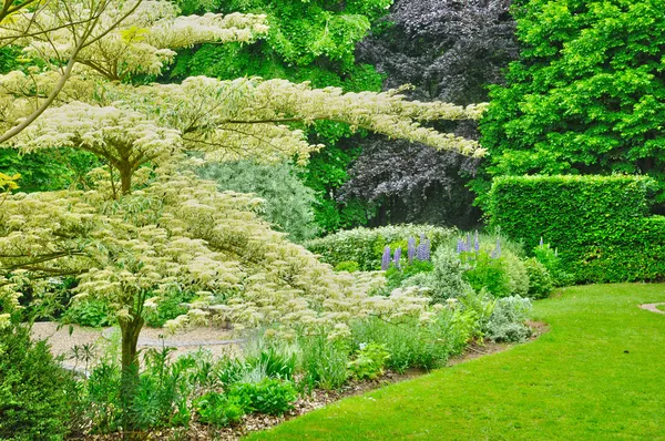
{"type": "Polygon", "coordinates": [[[314,192],[297,176],[298,170],[289,164],[256,164],[252,161],[207,163],[196,173],[215,181],[221,191],[253,193],[265,199],[262,217],[279,232],[288,233],[293,242],[313,238],[314,192]]]}

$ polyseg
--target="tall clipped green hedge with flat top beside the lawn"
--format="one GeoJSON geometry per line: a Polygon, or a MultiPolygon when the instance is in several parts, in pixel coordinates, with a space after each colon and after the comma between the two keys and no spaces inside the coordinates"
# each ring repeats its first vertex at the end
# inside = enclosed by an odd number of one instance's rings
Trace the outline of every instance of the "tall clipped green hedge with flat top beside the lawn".
{"type": "Polygon", "coordinates": [[[665,217],[649,216],[655,183],[638,176],[505,176],[489,194],[490,225],[526,249],[559,248],[577,283],[665,278],[665,217]]]}

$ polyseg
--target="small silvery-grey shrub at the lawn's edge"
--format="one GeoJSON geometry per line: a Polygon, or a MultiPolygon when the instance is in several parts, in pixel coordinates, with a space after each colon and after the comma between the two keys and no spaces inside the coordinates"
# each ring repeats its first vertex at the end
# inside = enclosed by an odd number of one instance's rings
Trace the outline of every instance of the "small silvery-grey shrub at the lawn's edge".
{"type": "Polygon", "coordinates": [[[492,341],[524,341],[531,328],[524,322],[531,312],[531,300],[520,296],[497,299],[487,324],[485,336],[492,341]]]}

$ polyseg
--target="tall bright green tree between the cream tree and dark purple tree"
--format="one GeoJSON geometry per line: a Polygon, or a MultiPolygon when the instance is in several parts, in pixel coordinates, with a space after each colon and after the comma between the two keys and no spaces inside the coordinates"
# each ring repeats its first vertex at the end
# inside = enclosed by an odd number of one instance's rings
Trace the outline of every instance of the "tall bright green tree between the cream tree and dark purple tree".
{"type": "MultiPolygon", "coordinates": [[[[338,86],[347,92],[380,91],[382,76],[369,64],[357,63],[356,44],[392,0],[181,0],[183,13],[206,11],[267,14],[268,34],[253,44],[203,44],[180,51],[172,79],[207,75],[218,79],[257,75],[265,79],[309,81],[316,88],[338,86]]],[[[315,124],[311,142],[326,147],[311,155],[301,173],[316,192],[315,219],[321,232],[364,225],[372,205],[336,199],[349,176],[349,165],[360,154],[348,125],[315,124]]]]}

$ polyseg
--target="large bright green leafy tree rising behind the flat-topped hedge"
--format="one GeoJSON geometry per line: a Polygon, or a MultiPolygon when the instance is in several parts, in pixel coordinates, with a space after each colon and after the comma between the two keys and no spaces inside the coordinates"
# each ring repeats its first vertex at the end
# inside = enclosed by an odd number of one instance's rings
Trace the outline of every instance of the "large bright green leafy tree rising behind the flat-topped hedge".
{"type": "Polygon", "coordinates": [[[532,0],[514,16],[520,60],[481,123],[489,177],[648,174],[665,201],[662,2],[532,0]]]}

